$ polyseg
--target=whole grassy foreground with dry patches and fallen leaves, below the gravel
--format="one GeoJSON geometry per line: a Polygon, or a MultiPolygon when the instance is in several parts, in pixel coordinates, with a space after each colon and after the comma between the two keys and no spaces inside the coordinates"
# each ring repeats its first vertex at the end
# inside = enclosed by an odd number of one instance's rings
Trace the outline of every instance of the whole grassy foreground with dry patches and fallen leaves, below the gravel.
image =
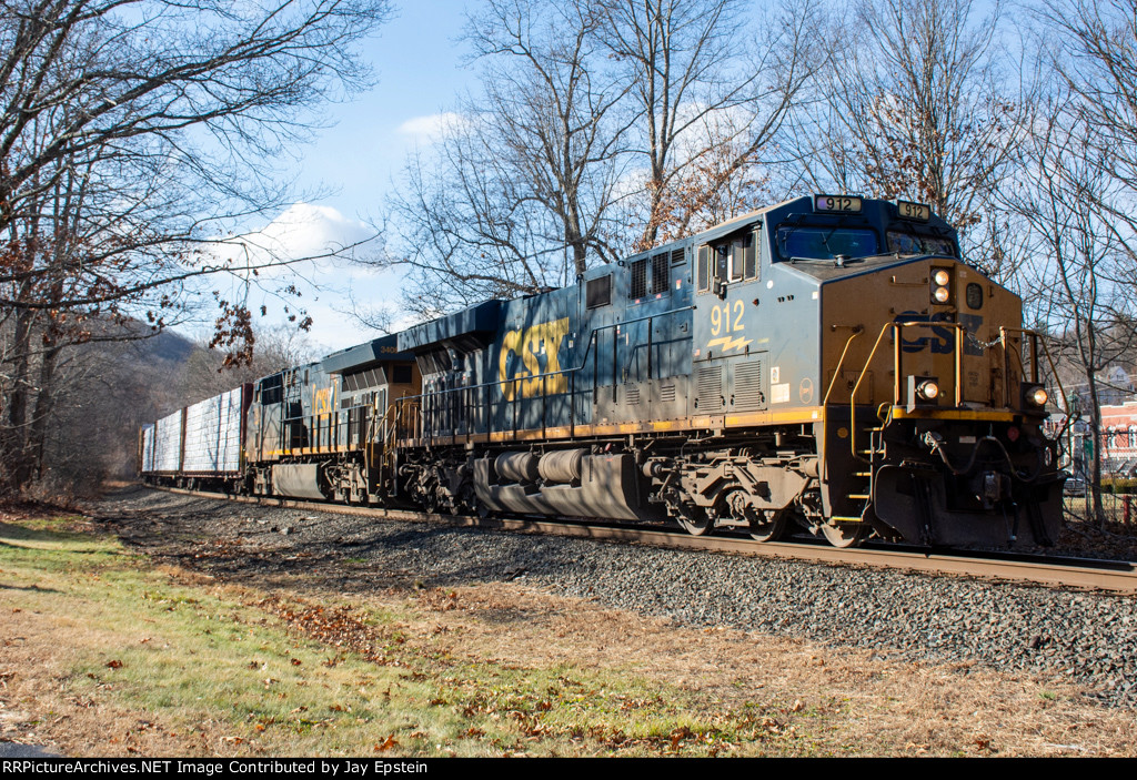
{"type": "Polygon", "coordinates": [[[70,755],[1129,755],[1054,679],[692,630],[520,584],[355,596],[0,517],[0,738],[70,755]]]}

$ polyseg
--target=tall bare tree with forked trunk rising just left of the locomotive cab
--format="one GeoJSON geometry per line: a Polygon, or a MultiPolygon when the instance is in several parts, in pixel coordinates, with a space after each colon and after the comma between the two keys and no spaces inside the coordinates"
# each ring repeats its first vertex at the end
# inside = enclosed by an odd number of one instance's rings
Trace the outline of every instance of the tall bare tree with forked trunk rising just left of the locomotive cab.
{"type": "MultiPolygon", "coordinates": [[[[645,162],[638,249],[687,235],[706,198],[778,157],[767,149],[825,61],[815,3],[755,12],[741,0],[605,0],[598,31],[632,85],[645,162]],[[760,154],[765,152],[765,157],[760,154]],[[688,203],[691,208],[682,208],[688,203]]],[[[636,203],[639,204],[639,203],[636,203]]]]}

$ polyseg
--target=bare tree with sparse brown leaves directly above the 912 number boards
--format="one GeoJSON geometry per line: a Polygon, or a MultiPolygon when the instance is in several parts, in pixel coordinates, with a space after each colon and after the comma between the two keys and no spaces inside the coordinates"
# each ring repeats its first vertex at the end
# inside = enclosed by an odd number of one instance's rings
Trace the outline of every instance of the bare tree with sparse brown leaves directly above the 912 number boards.
{"type": "Polygon", "coordinates": [[[929,203],[996,276],[984,242],[998,234],[977,226],[991,219],[1031,119],[1002,11],[996,2],[979,18],[971,0],[862,0],[830,22],[856,45],[835,54],[795,124],[815,188],[929,203]]]}

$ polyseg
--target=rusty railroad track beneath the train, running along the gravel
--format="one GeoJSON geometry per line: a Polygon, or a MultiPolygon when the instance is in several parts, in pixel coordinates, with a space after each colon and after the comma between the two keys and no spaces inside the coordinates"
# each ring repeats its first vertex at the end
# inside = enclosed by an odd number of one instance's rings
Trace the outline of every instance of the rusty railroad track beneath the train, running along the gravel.
{"type": "Polygon", "coordinates": [[[1126,561],[1047,557],[1043,555],[997,553],[943,553],[921,548],[881,548],[874,546],[837,548],[825,544],[794,542],[755,542],[733,536],[691,536],[683,531],[656,530],[619,523],[584,523],[571,520],[534,520],[526,518],[479,518],[474,515],[430,514],[410,510],[374,506],[345,506],[314,501],[233,496],[182,488],[159,487],[182,495],[217,498],[247,504],[281,506],[315,512],[338,512],[365,517],[441,522],[457,527],[485,528],[526,534],[571,536],[591,539],[621,540],[672,550],[704,550],[777,557],[832,565],[874,567],[931,574],[1005,580],[1044,586],[1062,586],[1121,594],[1137,593],[1137,564],[1126,561]]]}

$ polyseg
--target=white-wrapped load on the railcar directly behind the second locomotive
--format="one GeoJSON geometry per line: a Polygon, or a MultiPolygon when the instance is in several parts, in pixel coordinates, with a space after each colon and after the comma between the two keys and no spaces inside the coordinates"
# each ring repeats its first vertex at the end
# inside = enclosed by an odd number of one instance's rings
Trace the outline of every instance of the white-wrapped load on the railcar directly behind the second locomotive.
{"type": "Polygon", "coordinates": [[[183,473],[234,476],[241,472],[246,387],[215,395],[185,409],[183,473]]]}

